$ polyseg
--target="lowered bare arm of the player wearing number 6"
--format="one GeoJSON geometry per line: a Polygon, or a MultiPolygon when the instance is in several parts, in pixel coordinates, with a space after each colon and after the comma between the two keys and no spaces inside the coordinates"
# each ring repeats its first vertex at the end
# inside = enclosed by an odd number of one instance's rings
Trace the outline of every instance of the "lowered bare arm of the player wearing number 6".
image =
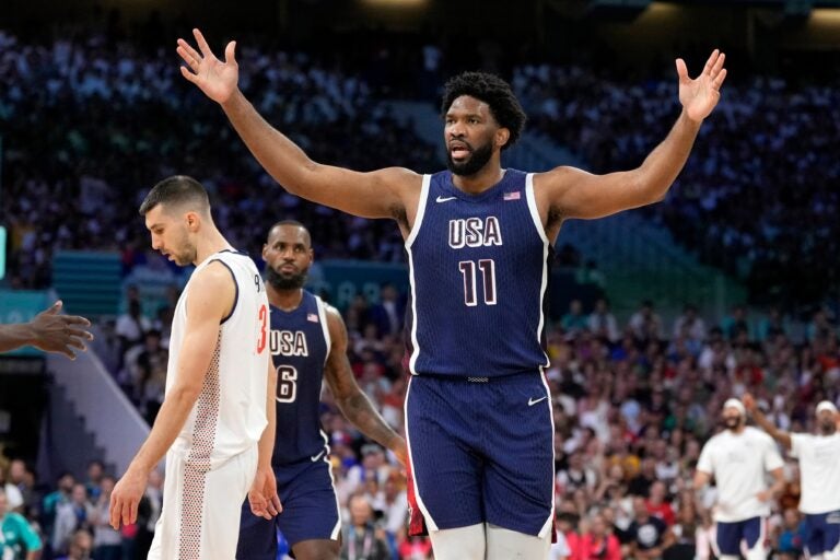
{"type": "Polygon", "coordinates": [[[326,315],[332,346],[324,369],[324,378],[332,392],[336,405],[350,423],[371,440],[394,452],[405,465],[408,458],[406,441],[385,423],[355,383],[350,361],[347,359],[347,328],[341,315],[334,307],[327,307],[326,315]]]}

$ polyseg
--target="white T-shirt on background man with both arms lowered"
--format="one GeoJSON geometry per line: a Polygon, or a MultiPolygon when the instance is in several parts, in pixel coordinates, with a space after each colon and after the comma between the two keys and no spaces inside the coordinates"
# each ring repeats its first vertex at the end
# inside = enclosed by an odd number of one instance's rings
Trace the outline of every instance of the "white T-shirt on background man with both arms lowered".
{"type": "Polygon", "coordinates": [[[747,427],[739,434],[724,430],[709,440],[697,469],[713,475],[718,486],[714,521],[734,523],[770,515],[770,502],[756,494],[767,490],[767,474],[783,466],[772,438],[747,427]]]}

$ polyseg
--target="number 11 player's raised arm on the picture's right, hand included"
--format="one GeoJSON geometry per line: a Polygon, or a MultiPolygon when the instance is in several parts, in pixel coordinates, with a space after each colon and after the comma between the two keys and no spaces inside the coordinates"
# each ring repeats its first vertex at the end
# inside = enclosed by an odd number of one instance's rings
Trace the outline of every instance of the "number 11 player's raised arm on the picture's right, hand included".
{"type": "Polygon", "coordinates": [[[536,175],[535,187],[545,191],[549,212],[562,218],[602,218],[665,198],[688,160],[700,125],[720,100],[719,90],[726,78],[724,58],[715,49],[702,73],[693,80],[688,77],[682,59],[677,59],[682,113],[640,167],[606,175],[557,167],[536,175]]]}

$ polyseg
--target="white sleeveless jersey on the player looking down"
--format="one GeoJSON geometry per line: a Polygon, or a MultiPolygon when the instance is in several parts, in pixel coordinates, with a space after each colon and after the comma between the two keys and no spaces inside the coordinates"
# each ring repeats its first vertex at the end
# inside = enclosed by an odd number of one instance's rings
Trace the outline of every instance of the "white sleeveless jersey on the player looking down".
{"type": "Polygon", "coordinates": [[[178,299],[172,320],[166,392],[177,376],[192,279],[217,260],[228,267],[236,282],[236,301],[222,320],[201,394],[173,445],[186,453],[187,462],[210,470],[259,441],[267,424],[269,360],[268,298],[259,271],[244,253],[221,250],[196,268],[178,299]]]}

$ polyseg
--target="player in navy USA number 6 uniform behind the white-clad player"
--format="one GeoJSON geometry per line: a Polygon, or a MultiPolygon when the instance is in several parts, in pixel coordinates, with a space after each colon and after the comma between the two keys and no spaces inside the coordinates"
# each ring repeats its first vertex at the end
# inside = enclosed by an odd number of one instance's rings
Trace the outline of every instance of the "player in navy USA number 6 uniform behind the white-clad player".
{"type": "Polygon", "coordinates": [[[275,560],[276,526],[298,560],[338,559],[341,529],[327,436],[318,404],[326,380],[336,404],[362,433],[406,460],[406,442],[388,428],[359,388],[347,359],[347,329],[338,311],[303,289],[312,240],[293,221],[275,224],[262,247],[270,308],[269,350],[277,370],[277,432],[271,468],[283,512],[252,514],[243,504],[241,560],[275,560]]]}

